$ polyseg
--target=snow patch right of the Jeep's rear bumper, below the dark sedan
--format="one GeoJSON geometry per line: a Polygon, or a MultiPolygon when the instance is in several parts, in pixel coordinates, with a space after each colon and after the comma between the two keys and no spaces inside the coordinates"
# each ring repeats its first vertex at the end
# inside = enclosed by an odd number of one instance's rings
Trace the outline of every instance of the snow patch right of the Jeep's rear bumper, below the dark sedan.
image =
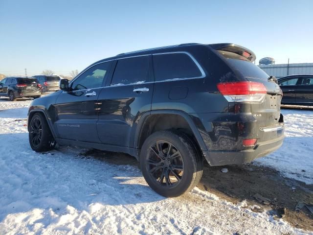
{"type": "Polygon", "coordinates": [[[313,111],[283,109],[286,127],[283,146],[256,161],[283,176],[313,184],[313,111]]]}

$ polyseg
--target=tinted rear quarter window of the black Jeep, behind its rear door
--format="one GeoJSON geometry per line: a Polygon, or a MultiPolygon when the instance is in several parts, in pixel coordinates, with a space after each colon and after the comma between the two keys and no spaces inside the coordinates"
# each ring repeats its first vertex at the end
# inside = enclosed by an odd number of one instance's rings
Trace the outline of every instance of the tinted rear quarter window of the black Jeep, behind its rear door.
{"type": "Polygon", "coordinates": [[[195,62],[185,53],[153,55],[153,66],[156,81],[202,75],[195,62]]]}

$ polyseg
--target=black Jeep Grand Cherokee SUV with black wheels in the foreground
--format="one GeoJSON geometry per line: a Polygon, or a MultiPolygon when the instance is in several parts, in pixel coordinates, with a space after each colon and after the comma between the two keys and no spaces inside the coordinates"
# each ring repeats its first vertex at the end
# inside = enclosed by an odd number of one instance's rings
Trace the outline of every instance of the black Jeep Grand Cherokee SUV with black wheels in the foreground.
{"type": "Polygon", "coordinates": [[[151,188],[179,196],[200,181],[203,160],[243,164],[281,146],[282,92],[254,60],[234,44],[182,44],[98,61],[32,102],[30,146],[128,153],[151,188]]]}

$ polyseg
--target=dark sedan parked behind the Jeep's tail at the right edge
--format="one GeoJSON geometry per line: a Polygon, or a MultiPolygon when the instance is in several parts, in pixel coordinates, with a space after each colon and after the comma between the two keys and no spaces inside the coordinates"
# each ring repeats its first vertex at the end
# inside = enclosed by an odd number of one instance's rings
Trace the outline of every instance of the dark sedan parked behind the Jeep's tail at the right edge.
{"type": "Polygon", "coordinates": [[[282,104],[313,105],[313,75],[290,75],[278,79],[282,104]]]}

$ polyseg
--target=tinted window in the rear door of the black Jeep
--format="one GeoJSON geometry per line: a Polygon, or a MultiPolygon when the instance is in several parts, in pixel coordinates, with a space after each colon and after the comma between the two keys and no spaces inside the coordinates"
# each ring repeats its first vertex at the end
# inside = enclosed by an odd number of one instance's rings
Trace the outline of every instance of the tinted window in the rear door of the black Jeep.
{"type": "Polygon", "coordinates": [[[144,83],[149,79],[149,56],[117,61],[111,86],[144,83]]]}

